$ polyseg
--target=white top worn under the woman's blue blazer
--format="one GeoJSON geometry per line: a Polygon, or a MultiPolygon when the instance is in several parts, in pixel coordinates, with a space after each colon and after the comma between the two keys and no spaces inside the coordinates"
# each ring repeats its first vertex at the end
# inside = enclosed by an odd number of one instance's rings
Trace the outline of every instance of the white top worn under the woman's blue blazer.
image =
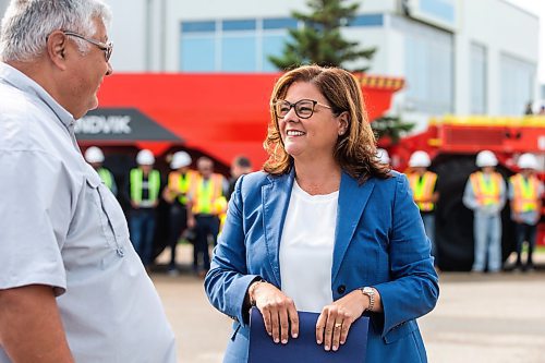
{"type": "Polygon", "coordinates": [[[339,192],[310,195],[293,182],[280,240],[282,291],[295,308],[320,313],[334,301],[331,268],[339,192]]]}

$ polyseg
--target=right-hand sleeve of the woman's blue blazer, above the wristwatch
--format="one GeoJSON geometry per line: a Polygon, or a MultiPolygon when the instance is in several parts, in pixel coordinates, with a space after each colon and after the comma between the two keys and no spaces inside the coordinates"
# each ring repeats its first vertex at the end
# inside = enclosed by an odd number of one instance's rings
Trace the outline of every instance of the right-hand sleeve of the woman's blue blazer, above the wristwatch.
{"type": "Polygon", "coordinates": [[[403,174],[396,183],[389,261],[390,281],[374,286],[380,293],[384,307],[383,337],[405,322],[431,312],[439,297],[431,243],[403,174]]]}

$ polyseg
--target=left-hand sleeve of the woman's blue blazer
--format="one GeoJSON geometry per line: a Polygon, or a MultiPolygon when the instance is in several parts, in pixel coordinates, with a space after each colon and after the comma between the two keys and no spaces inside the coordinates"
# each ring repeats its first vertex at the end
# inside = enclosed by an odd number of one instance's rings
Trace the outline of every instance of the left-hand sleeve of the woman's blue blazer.
{"type": "Polygon", "coordinates": [[[243,180],[244,176],[239,178],[229,201],[226,223],[205,278],[205,290],[214,307],[241,324],[247,324],[249,312],[244,308],[246,291],[259,277],[247,275],[241,192],[243,180]]]}

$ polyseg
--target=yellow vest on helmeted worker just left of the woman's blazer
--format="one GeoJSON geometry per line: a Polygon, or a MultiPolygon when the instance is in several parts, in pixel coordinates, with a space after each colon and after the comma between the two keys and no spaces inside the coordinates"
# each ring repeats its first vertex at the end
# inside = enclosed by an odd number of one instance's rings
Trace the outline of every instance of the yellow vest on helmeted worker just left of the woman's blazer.
{"type": "Polygon", "coordinates": [[[223,196],[222,176],[213,173],[207,181],[198,176],[191,187],[193,214],[219,215],[225,211],[227,199],[223,196]]]}

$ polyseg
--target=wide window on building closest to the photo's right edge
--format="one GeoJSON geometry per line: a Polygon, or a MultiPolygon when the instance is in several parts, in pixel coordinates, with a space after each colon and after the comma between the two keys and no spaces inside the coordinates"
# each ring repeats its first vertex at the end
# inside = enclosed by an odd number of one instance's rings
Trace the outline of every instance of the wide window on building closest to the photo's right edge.
{"type": "Polygon", "coordinates": [[[501,114],[522,114],[524,107],[533,100],[536,66],[509,55],[500,57],[501,114]]]}

